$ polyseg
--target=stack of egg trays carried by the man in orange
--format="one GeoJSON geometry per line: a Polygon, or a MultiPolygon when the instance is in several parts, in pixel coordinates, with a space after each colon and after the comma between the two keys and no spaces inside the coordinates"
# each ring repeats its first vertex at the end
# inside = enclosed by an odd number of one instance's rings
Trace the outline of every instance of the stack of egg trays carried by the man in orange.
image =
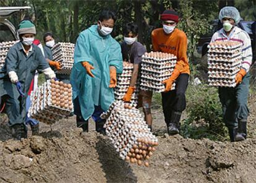
{"type": "MultiPolygon", "coordinates": [[[[176,56],[169,53],[153,52],[142,56],[140,89],[163,92],[164,80],[169,79],[176,65],[176,56]]],[[[171,90],[174,90],[175,83],[171,90]]]]}

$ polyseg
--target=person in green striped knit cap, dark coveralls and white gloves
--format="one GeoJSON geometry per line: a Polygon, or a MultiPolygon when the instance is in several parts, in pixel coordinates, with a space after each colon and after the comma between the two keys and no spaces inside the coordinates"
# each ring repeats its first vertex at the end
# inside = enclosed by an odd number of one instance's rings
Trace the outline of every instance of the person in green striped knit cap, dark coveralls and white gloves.
{"type": "Polygon", "coordinates": [[[9,126],[15,140],[27,138],[25,101],[36,70],[56,79],[38,46],[33,45],[36,29],[30,20],[18,27],[20,42],[9,49],[6,62],[0,70],[0,97],[6,103],[9,126]]]}

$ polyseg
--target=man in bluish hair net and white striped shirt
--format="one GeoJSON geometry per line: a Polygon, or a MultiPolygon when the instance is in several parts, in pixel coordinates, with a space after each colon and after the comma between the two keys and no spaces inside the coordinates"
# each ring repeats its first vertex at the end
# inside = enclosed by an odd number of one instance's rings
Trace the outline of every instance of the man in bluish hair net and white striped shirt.
{"type": "Polygon", "coordinates": [[[252,64],[252,46],[249,35],[236,27],[241,17],[236,7],[223,7],[219,14],[223,28],[214,33],[213,41],[236,41],[241,43],[242,64],[236,75],[237,86],[234,88],[220,87],[219,96],[223,106],[224,122],[229,130],[231,142],[245,140],[247,136],[247,116],[249,109],[249,69],[252,64]]]}

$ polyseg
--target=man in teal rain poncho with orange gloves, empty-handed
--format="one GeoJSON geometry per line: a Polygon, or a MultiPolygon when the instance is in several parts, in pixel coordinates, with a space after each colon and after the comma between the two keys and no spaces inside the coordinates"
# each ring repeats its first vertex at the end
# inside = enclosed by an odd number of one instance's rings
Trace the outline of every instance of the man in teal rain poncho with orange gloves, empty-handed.
{"type": "Polygon", "coordinates": [[[113,12],[102,11],[98,25],[81,32],[75,44],[70,83],[77,127],[82,127],[85,132],[92,116],[96,131],[105,133],[105,121],[100,114],[113,103],[116,73],[122,72],[121,47],[110,35],[115,20],[113,12]]]}

